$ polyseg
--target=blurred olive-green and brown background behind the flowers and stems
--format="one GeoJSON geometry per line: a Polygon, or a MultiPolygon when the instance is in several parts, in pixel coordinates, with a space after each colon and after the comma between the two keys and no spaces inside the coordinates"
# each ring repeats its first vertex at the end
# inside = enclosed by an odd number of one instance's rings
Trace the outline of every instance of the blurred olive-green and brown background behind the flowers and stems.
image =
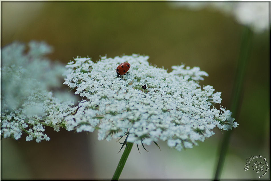
{"type": "MultiPolygon", "coordinates": [[[[195,2],[194,2],[195,3],[195,2]]],[[[222,92],[229,108],[243,26],[211,9],[172,8],[174,2],[1,2],[1,48],[13,41],[45,41],[49,57],[66,64],[72,57],[149,55],[149,62],[171,71],[172,65],[199,66],[200,84],[222,92]]],[[[270,32],[253,35],[223,179],[256,179],[244,171],[251,155],[270,164],[270,32]]],[[[223,131],[193,149],[178,152],[160,141],[136,146],[120,179],[212,179],[223,131]]],[[[111,179],[122,155],[117,140],[98,141],[97,132],[46,128],[50,141],[1,140],[2,179],[111,179]]],[[[270,179],[270,172],[262,179],[270,179]]]]}

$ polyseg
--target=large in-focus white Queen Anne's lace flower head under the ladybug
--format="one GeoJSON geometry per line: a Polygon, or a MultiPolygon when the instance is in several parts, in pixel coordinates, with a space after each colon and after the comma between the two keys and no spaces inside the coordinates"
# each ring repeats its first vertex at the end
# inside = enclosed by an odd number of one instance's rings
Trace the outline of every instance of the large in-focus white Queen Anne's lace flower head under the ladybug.
{"type": "Polygon", "coordinates": [[[82,97],[75,114],[65,117],[68,130],[94,131],[98,139],[127,135],[126,141],[150,145],[159,139],[181,151],[214,134],[218,127],[237,127],[231,112],[213,105],[221,103],[221,92],[212,86],[201,89],[199,67],[173,66],[173,71],[149,65],[148,56],[133,54],[94,63],[77,57],[66,65],[64,84],[82,97]],[[131,64],[130,75],[117,77],[120,63],[131,64]]]}

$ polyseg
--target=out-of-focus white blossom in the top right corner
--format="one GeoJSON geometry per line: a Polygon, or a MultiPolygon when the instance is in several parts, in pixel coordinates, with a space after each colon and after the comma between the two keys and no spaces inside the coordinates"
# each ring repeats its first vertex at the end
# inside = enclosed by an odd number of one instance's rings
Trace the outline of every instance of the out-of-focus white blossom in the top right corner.
{"type": "Polygon", "coordinates": [[[237,22],[250,26],[255,32],[270,29],[270,2],[173,2],[171,7],[188,7],[194,10],[203,8],[217,9],[225,14],[233,15],[237,22]]]}

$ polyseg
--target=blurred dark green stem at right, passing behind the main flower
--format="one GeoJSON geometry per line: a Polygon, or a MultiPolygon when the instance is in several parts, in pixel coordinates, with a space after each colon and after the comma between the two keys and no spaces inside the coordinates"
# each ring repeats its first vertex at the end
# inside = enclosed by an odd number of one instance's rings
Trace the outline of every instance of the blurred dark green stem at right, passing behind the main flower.
{"type": "MultiPolygon", "coordinates": [[[[246,73],[246,65],[248,64],[248,58],[251,48],[252,31],[249,27],[245,26],[242,34],[241,48],[239,54],[239,60],[236,70],[236,77],[234,80],[234,86],[232,91],[232,100],[230,110],[232,111],[232,117],[237,120],[238,112],[240,112],[240,105],[242,99],[242,88],[244,77],[246,73]]],[[[229,145],[230,135],[232,130],[226,131],[223,141],[220,146],[219,161],[217,163],[217,170],[215,172],[215,180],[218,180],[223,170],[223,165],[226,157],[226,152],[229,145]]]]}

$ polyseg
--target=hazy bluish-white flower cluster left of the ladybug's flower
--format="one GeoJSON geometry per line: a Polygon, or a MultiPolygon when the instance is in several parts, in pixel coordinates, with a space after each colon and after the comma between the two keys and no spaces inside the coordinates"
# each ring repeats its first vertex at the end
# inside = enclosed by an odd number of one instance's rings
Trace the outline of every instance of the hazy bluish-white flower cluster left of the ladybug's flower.
{"type": "Polygon", "coordinates": [[[71,108],[72,94],[62,93],[57,99],[48,91],[62,85],[65,69],[43,56],[51,51],[47,44],[35,41],[29,43],[29,50],[19,42],[1,50],[1,136],[4,138],[19,139],[25,132],[27,141],[49,140],[44,134],[45,126],[59,131],[64,117],[76,109],[71,108]]]}

